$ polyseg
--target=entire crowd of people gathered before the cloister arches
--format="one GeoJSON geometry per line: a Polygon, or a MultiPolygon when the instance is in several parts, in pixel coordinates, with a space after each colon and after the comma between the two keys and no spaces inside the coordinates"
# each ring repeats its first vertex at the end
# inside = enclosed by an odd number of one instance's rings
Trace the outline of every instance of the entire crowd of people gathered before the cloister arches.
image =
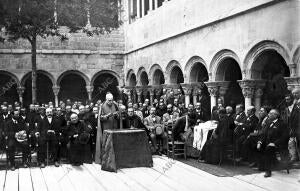
{"type": "Polygon", "coordinates": [[[149,99],[143,103],[115,101],[109,92],[103,103],[66,100],[58,107],[49,102],[31,104],[25,109],[18,102],[13,105],[4,102],[0,114],[0,149],[6,151],[11,170],[16,168],[16,150],[22,152],[24,167],[30,165],[32,151],[37,152],[40,167],[45,167],[49,160],[59,166],[61,158],[73,165],[90,163],[95,160],[99,119],[102,132],[144,129],[153,153],[167,154],[166,126],[172,126],[175,140],[187,141],[193,127],[214,120],[217,128],[208,134],[200,160],[214,161],[214,156],[220,156],[227,145],[234,145],[235,160],[248,161],[251,167],[266,171],[265,177],[269,177],[276,153],[289,155],[291,161],[299,160],[299,100],[300,90],[295,89],[286,95],[284,107],[262,106],[258,116],[254,106],[225,106],[222,100],[212,111],[204,105],[207,99],[185,107],[182,94],[175,95],[165,89],[153,103],[149,99]]]}

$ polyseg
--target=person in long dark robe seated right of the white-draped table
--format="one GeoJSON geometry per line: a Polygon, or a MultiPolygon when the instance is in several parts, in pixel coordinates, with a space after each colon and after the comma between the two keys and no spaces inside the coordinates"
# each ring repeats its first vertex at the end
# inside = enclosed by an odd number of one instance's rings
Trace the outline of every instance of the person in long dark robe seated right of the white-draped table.
{"type": "Polygon", "coordinates": [[[211,164],[220,162],[220,154],[226,145],[230,144],[233,134],[233,121],[226,115],[226,110],[220,108],[218,112],[218,126],[212,133],[211,138],[205,143],[200,159],[211,164]]]}

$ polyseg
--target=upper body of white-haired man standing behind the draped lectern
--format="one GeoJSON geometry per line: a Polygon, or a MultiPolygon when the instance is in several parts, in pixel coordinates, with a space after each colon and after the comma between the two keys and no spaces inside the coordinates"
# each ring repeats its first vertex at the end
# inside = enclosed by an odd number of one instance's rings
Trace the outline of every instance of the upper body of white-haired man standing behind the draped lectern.
{"type": "Polygon", "coordinates": [[[114,103],[113,95],[111,93],[106,94],[106,101],[101,106],[101,126],[102,130],[118,129],[119,126],[119,114],[118,106],[114,103]]]}

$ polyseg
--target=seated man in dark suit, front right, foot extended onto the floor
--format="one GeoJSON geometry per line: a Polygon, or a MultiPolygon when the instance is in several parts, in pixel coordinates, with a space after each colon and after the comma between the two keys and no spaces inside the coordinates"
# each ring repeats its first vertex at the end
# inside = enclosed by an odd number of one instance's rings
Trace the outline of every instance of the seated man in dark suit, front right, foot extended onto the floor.
{"type": "Polygon", "coordinates": [[[271,164],[275,158],[275,152],[286,149],[288,146],[288,130],[282,125],[279,116],[279,111],[276,109],[269,112],[270,123],[257,142],[257,149],[261,152],[259,168],[265,170],[264,177],[271,176],[271,164]]]}

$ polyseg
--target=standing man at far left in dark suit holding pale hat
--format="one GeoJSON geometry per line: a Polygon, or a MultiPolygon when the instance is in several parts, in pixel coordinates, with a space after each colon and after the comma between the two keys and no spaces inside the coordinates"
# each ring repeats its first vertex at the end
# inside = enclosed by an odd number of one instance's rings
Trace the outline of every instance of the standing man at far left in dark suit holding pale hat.
{"type": "Polygon", "coordinates": [[[20,113],[18,110],[13,111],[12,118],[5,125],[5,140],[7,146],[8,160],[11,170],[15,170],[15,151],[19,147],[22,150],[23,167],[27,168],[29,146],[28,134],[25,123],[20,122],[20,113]],[[20,135],[20,136],[19,136],[20,135]]]}

